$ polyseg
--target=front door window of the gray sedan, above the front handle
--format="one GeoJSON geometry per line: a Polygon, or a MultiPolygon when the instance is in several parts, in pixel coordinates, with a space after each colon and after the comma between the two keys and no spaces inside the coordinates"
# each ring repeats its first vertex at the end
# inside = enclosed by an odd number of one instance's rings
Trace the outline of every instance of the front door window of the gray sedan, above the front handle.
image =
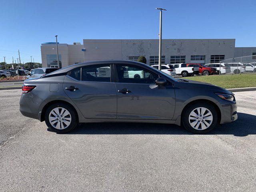
{"type": "Polygon", "coordinates": [[[153,72],[141,68],[139,66],[133,66],[129,64],[116,64],[117,69],[117,82],[120,83],[141,83],[141,84],[153,84],[159,77],[153,72]],[[124,70],[124,68],[126,70],[124,70]]]}

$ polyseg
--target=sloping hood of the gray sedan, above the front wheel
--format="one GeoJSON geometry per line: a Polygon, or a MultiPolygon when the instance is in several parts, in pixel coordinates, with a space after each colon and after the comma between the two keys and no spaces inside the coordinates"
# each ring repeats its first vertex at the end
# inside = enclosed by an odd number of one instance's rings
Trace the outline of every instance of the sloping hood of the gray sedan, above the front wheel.
{"type": "Polygon", "coordinates": [[[193,81],[193,80],[188,80],[188,79],[181,79],[178,78],[179,80],[183,80],[183,83],[190,84],[191,87],[194,87],[195,89],[206,89],[206,90],[212,90],[213,92],[216,93],[223,93],[223,94],[232,94],[229,90],[226,90],[222,87],[210,84],[210,83],[205,83],[205,82],[199,82],[199,81],[193,81]]]}

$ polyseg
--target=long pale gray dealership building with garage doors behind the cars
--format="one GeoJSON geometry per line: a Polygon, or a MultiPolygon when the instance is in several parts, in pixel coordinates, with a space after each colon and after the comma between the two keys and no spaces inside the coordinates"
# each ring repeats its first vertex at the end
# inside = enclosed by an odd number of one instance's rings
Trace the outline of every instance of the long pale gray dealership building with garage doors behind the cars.
{"type": "MultiPolygon", "coordinates": [[[[235,39],[163,39],[162,64],[217,63],[229,58],[256,55],[256,47],[235,47],[235,39]]],[[[95,60],[133,60],[143,55],[147,64],[158,64],[158,39],[84,39],[83,44],[58,43],[62,67],[95,60]]],[[[41,45],[42,66],[57,67],[56,43],[41,45]]],[[[256,56],[251,57],[256,61],[256,56]]]]}

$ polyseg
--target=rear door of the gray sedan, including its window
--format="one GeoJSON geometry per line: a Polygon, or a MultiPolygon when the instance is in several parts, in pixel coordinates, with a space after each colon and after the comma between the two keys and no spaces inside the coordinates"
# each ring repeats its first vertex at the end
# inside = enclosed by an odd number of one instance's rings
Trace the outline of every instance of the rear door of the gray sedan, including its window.
{"type": "Polygon", "coordinates": [[[112,64],[91,65],[68,72],[63,89],[85,118],[116,118],[116,87],[112,64]]]}

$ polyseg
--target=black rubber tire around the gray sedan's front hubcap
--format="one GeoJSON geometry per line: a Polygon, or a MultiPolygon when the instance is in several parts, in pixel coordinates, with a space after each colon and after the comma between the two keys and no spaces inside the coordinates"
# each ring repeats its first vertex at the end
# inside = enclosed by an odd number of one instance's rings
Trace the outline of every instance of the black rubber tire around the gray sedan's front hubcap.
{"type": "Polygon", "coordinates": [[[218,114],[216,112],[216,109],[212,105],[208,104],[207,102],[195,103],[195,104],[188,106],[185,109],[185,112],[182,116],[182,125],[186,128],[186,130],[188,130],[192,133],[195,133],[195,134],[208,133],[211,130],[213,130],[217,124],[218,124],[218,114]],[[212,124],[210,124],[210,126],[204,130],[197,130],[197,129],[193,128],[189,123],[188,118],[189,118],[190,112],[192,112],[192,110],[194,110],[198,107],[207,108],[212,113],[212,116],[213,116],[212,124]]]}

